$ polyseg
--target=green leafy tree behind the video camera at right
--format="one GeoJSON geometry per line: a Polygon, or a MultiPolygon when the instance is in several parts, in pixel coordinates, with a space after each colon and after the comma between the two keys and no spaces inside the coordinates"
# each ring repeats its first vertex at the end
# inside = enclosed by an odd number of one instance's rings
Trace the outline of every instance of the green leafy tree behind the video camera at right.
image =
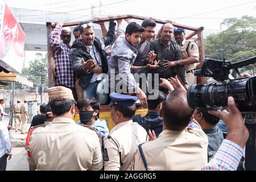
{"type": "MultiPolygon", "coordinates": [[[[240,61],[256,55],[256,18],[228,18],[221,23],[227,27],[218,34],[212,34],[205,39],[205,54],[213,59],[232,62],[240,61]]],[[[256,64],[241,69],[241,72],[254,74],[256,64]]]]}

